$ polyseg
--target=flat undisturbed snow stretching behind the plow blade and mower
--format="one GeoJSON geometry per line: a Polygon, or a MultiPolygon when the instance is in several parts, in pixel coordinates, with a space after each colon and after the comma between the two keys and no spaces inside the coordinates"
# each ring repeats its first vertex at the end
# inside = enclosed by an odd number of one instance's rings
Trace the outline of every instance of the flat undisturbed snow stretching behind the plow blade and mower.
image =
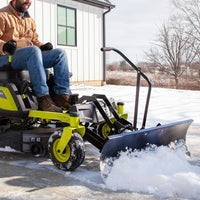
{"type": "MultiPolygon", "coordinates": [[[[72,86],[72,92],[82,95],[105,94],[115,101],[125,103],[125,112],[129,114],[129,121],[133,121],[135,87],[106,85],[103,87],[91,87],[85,85],[72,86]]],[[[146,101],[147,88],[140,89],[140,104],[138,121],[142,122],[143,111],[146,101]]],[[[200,91],[175,90],[153,88],[148,111],[148,127],[161,124],[193,119],[193,126],[200,126],[200,91]]],[[[139,126],[140,127],[140,126],[139,126]]]]}

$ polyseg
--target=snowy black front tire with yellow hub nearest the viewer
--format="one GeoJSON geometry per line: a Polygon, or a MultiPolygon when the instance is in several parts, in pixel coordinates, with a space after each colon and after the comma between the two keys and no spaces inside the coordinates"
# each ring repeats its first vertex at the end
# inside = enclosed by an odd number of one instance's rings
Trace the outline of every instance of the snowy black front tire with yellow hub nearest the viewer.
{"type": "Polygon", "coordinates": [[[60,140],[61,135],[62,129],[59,129],[50,136],[48,142],[49,156],[58,169],[73,171],[79,167],[85,159],[84,141],[79,133],[73,132],[64,153],[59,157],[59,155],[56,154],[56,144],[60,140]]]}

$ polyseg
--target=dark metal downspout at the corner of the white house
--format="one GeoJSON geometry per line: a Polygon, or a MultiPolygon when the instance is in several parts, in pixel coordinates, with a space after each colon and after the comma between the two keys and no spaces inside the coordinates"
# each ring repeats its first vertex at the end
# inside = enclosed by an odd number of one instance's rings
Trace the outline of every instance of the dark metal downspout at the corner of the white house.
{"type": "MultiPolygon", "coordinates": [[[[111,11],[111,7],[103,13],[103,47],[106,47],[106,20],[105,15],[111,11]]],[[[103,85],[106,84],[106,52],[103,52],[103,85]]]]}

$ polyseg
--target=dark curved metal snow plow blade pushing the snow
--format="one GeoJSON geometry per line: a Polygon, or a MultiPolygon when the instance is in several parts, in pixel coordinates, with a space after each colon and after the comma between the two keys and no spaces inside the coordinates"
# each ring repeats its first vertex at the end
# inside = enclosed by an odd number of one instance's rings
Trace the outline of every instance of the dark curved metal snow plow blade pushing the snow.
{"type": "Polygon", "coordinates": [[[169,145],[180,139],[185,140],[187,130],[193,120],[180,121],[176,123],[127,132],[108,136],[108,141],[101,151],[101,161],[106,158],[117,157],[121,151],[127,149],[143,149],[149,144],[156,146],[169,145]]]}

